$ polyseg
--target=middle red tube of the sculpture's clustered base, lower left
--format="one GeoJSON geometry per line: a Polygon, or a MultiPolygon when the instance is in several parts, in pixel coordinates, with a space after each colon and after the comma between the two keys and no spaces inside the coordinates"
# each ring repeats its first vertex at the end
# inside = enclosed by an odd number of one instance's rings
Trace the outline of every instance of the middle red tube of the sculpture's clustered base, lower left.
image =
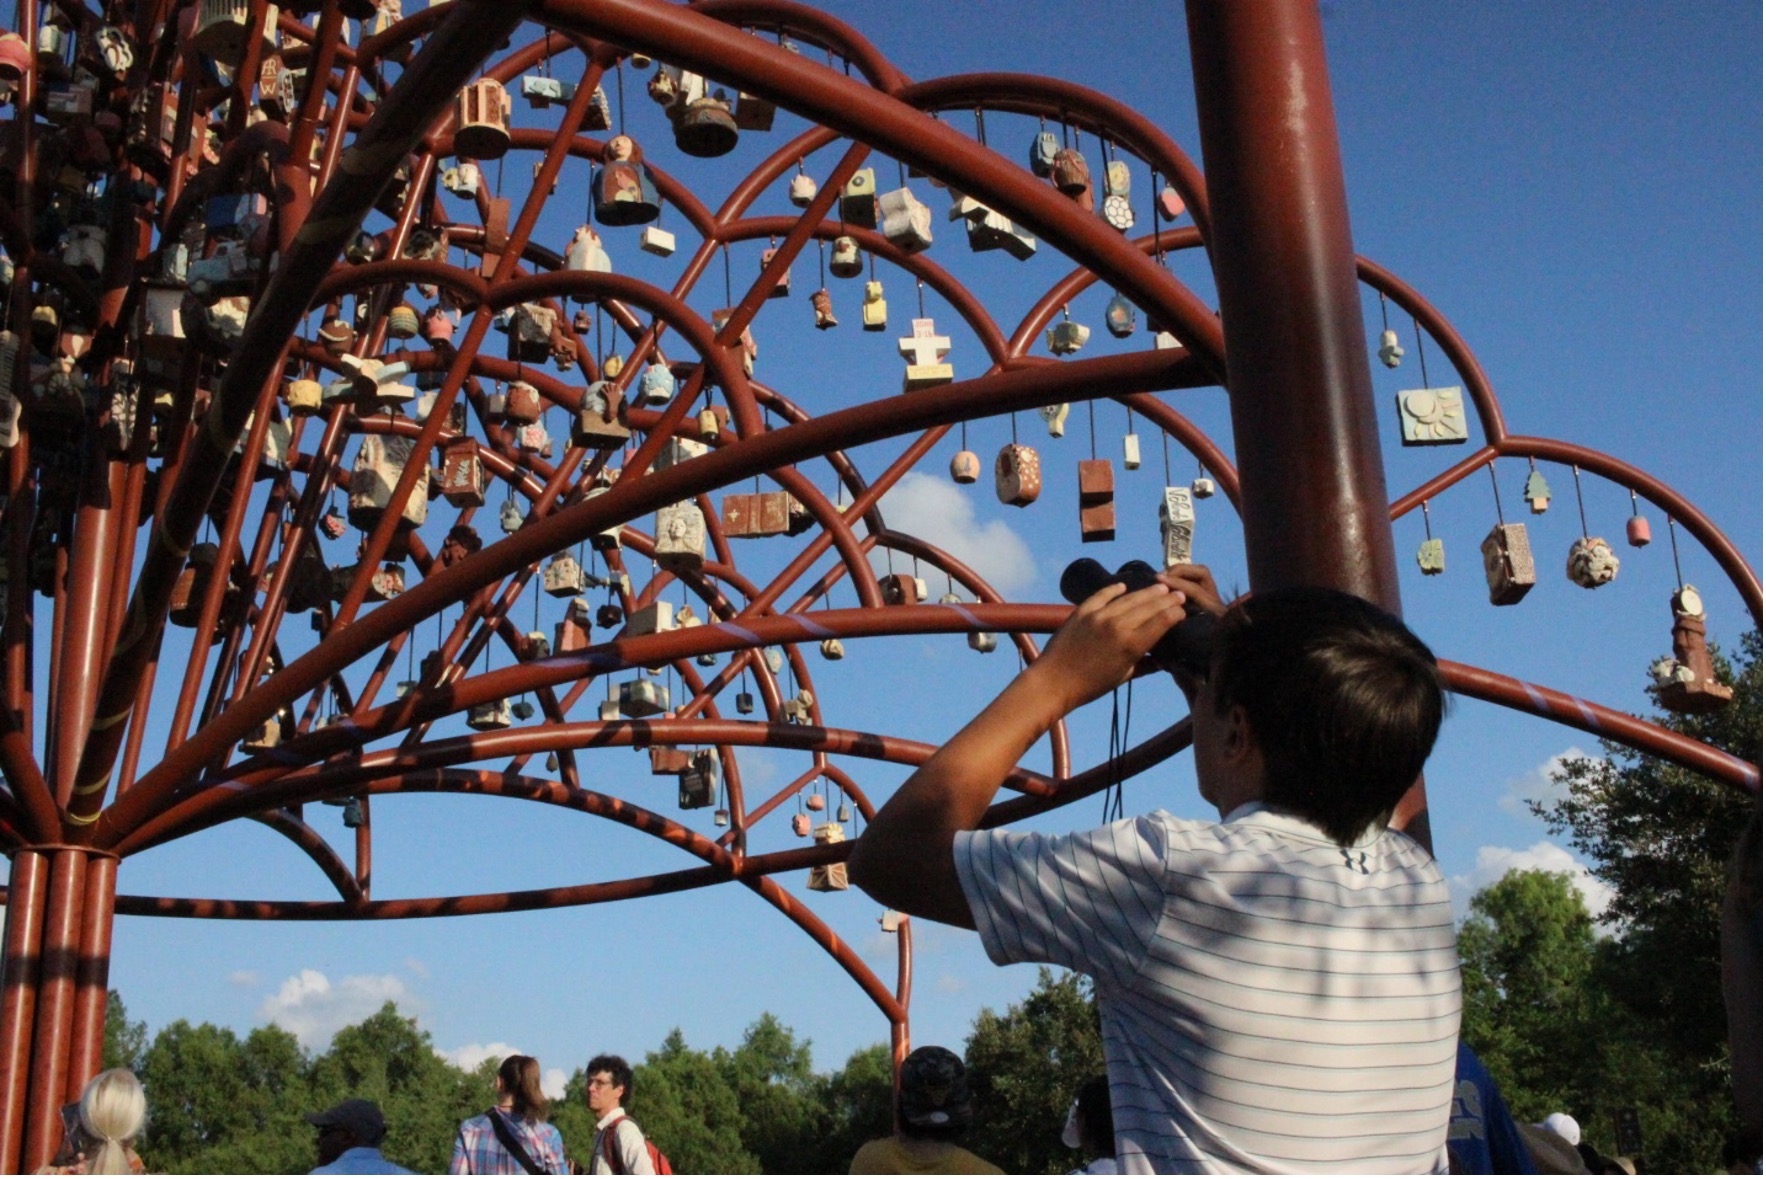
{"type": "Polygon", "coordinates": [[[49,904],[42,914],[42,969],[37,978],[35,1036],[30,1047],[30,1098],[25,1110],[25,1174],[35,1172],[62,1144],[62,1091],[67,1085],[69,1033],[74,1022],[74,965],[87,897],[87,852],[58,851],[49,861],[49,904]]]}

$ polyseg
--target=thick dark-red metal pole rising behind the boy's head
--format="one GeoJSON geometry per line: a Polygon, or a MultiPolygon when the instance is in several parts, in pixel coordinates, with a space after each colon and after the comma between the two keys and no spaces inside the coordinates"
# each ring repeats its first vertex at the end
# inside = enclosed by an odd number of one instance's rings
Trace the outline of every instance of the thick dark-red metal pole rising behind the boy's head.
{"type": "MultiPolygon", "coordinates": [[[[1252,590],[1400,611],[1374,385],[1314,0],[1190,0],[1252,590]]],[[[1400,807],[1429,838],[1420,785],[1400,807]]]]}

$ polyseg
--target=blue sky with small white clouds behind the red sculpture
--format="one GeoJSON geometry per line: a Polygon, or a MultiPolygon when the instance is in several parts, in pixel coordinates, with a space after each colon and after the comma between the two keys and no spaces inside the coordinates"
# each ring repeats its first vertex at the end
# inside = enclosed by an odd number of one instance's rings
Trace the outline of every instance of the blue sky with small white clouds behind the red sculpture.
{"type": "MultiPolygon", "coordinates": [[[[1201,162],[1178,5],[970,0],[961,23],[950,19],[952,5],[920,0],[825,7],[855,23],[913,78],[1008,69],[1081,81],[1151,116],[1201,162]]],[[[1759,568],[1759,9],[1335,2],[1324,16],[1358,251],[1418,288],[1460,330],[1494,381],[1513,432],[1586,443],[1651,471],[1701,505],[1759,568]]],[[[798,125],[781,116],[779,131],[752,136],[758,143],[745,141],[728,161],[691,171],[668,145],[641,86],[627,85],[627,94],[632,131],[655,143],[662,166],[682,168],[710,198],[721,198],[740,169],[798,125]]],[[[519,102],[517,109],[517,120],[537,118],[519,102]]],[[[970,120],[952,122],[968,129],[970,120]]],[[[1030,124],[1023,120],[998,116],[989,131],[989,141],[1014,159],[1028,146],[1030,124]]],[[[834,152],[823,152],[811,166],[825,169],[832,161],[834,152]]],[[[525,175],[525,162],[510,157],[509,176],[517,175],[525,175]]],[[[567,185],[581,180],[586,171],[567,175],[567,185]]],[[[1146,184],[1144,173],[1136,184],[1146,184]]],[[[947,229],[938,194],[924,182],[915,185],[940,214],[938,259],[970,281],[1003,323],[1015,323],[1065,272],[1045,256],[1023,267],[1000,254],[970,258],[947,229]]],[[[1144,226],[1146,194],[1137,187],[1136,196],[1144,226]]],[[[763,212],[786,208],[782,191],[761,203],[763,212]]],[[[540,235],[562,245],[576,219],[576,210],[560,208],[540,235]]],[[[634,237],[608,235],[616,268],[666,286],[685,251],[664,263],[639,254],[634,237]]],[[[758,252],[733,251],[738,281],[756,272],[758,252]]],[[[894,341],[911,316],[911,284],[883,275],[892,330],[881,335],[857,328],[857,282],[835,284],[842,318],[849,311],[851,319],[823,335],[809,328],[802,298],[814,288],[811,270],[811,261],[800,261],[793,298],[770,304],[763,316],[759,376],[812,411],[894,392],[901,364],[894,341]]],[[[1210,293],[1194,259],[1178,270],[1210,293]]],[[[721,274],[715,267],[710,274],[712,288],[691,300],[701,311],[724,305],[721,274]]],[[[1072,309],[1075,319],[1098,328],[1086,355],[1116,346],[1100,330],[1106,298],[1107,291],[1091,291],[1072,309]]],[[[957,332],[955,316],[936,300],[929,300],[929,312],[955,335],[950,360],[959,376],[975,374],[980,348],[957,332]]],[[[1377,304],[1369,300],[1363,314],[1372,339],[1377,304]]],[[[1397,447],[1392,395],[1420,383],[1408,321],[1402,328],[1411,357],[1395,372],[1377,365],[1374,372],[1393,494],[1460,455],[1397,447]]],[[[1141,335],[1132,344],[1144,341],[1141,335]]],[[[1448,367],[1432,348],[1429,364],[1432,383],[1448,383],[1448,367]]],[[[1176,397],[1185,415],[1231,448],[1220,390],[1176,397]]],[[[955,448],[947,445],[885,510],[897,528],[920,528],[1010,595],[1056,600],[1060,568],[1079,554],[1068,471],[1072,461],[1086,457],[1086,417],[1075,411],[1061,441],[1047,439],[1031,415],[1019,429],[1037,439],[1053,471],[1037,507],[1003,508],[985,494],[985,484],[954,487],[943,475],[955,448]]],[[[973,425],[971,445],[985,457],[1007,432],[1005,422],[973,425]]],[[[1100,408],[1100,454],[1116,454],[1121,432],[1120,408],[1100,408]]],[[[1146,466],[1118,471],[1118,540],[1088,547],[1107,563],[1157,551],[1160,455],[1144,427],[1143,441],[1151,447],[1146,466]]],[[[876,471],[890,454],[872,447],[855,457],[876,471]]],[[[1178,480],[1187,480],[1190,468],[1187,457],[1173,454],[1178,480]]],[[[1619,547],[1625,565],[1612,586],[1579,590],[1559,572],[1561,554],[1581,533],[1572,477],[1558,466],[1545,473],[1556,492],[1552,510],[1524,517],[1542,567],[1533,595],[1510,609],[1485,602],[1476,544],[1496,508],[1489,480],[1478,478],[1434,505],[1434,533],[1448,551],[1445,577],[1423,581],[1409,561],[1422,522],[1397,524],[1406,614],[1445,658],[1642,711],[1644,669],[1669,648],[1674,572],[1662,515],[1648,512],[1657,535],[1651,547],[1619,547]]],[[[1524,515],[1524,462],[1499,466],[1510,521],[1524,515]]],[[[1625,494],[1584,478],[1584,496],[1591,531],[1618,544],[1630,514],[1625,494]]],[[[1201,505],[1197,528],[1199,559],[1215,565],[1222,584],[1243,584],[1243,552],[1224,498],[1201,505]]],[[[745,568],[751,559],[758,570],[779,568],[788,554],[784,542],[745,544],[752,545],[742,551],[745,568]]],[[[1747,628],[1741,600],[1702,552],[1683,544],[1681,563],[1687,579],[1704,590],[1713,637],[1732,642],[1747,628]]],[[[835,593],[834,602],[849,604],[849,591],[844,600],[835,593]]],[[[556,605],[546,602],[547,628],[556,605]]],[[[984,658],[954,639],[853,642],[848,650],[842,664],[814,665],[830,722],[927,741],[948,736],[1015,669],[1005,650],[984,658]]],[[[175,662],[168,658],[168,665],[175,662]]],[[[1141,688],[1132,738],[1150,736],[1176,711],[1173,692],[1141,688]]],[[[1106,738],[1107,706],[1093,706],[1074,724],[1075,764],[1098,761],[1106,738]]],[[[1547,789],[1547,766],[1574,750],[1591,752],[1595,743],[1475,701],[1459,702],[1429,766],[1429,792],[1436,851],[1460,895],[1510,865],[1572,863],[1521,800],[1538,798],[1547,789]]],[[[152,762],[152,752],[148,741],[143,764],[152,762]]],[[[588,761],[599,789],[668,808],[660,780],[650,778],[638,757],[613,750],[599,759],[588,761]]],[[[745,755],[751,798],[758,787],[777,789],[804,764],[786,754],[745,755]]],[[[904,777],[890,766],[844,764],[872,798],[887,796],[904,777]]],[[[1045,750],[1033,750],[1030,764],[1045,766],[1045,750]]],[[[1203,815],[1189,759],[1130,782],[1127,807],[1203,815]]],[[[321,810],[316,824],[341,835],[336,810],[321,810]]],[[[376,897],[569,884],[685,867],[678,854],[636,833],[581,815],[530,814],[537,810],[466,798],[376,801],[376,897]]],[[[1081,803],[1042,826],[1090,824],[1097,814],[1095,801],[1081,803]]],[[[781,824],[774,828],[756,833],[756,849],[796,845],[781,824]]],[[[131,860],[120,881],[125,893],[325,897],[318,872],[251,822],[131,860]]],[[[894,978],[894,946],[878,932],[874,904],[857,891],[814,895],[802,893],[800,881],[788,884],[885,980],[894,978]]],[[[1015,1001],[1035,976],[1031,967],[996,969],[971,934],[927,923],[918,923],[915,948],[918,1043],[959,1047],[982,1006],[1015,1001]]],[[[131,1015],[155,1029],[180,1017],[238,1029],[274,1017],[321,1047],[337,1025],[396,999],[440,1048],[466,1063],[514,1047],[547,1068],[569,1070],[600,1050],[641,1055],[676,1025],[694,1045],[729,1045],[763,1011],[809,1036],[819,1068],[837,1066],[887,1034],[857,987],[740,888],[560,912],[362,927],[125,918],[117,925],[113,962],[111,981],[131,1015]]]]}

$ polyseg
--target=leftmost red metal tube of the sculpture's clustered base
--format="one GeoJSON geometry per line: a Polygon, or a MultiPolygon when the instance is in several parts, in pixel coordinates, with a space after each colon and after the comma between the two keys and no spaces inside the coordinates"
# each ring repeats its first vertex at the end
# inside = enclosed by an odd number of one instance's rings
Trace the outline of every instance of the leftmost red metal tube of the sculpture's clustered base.
{"type": "Polygon", "coordinates": [[[12,852],[5,907],[5,974],[0,983],[0,1174],[19,1174],[25,1158],[25,1101],[30,1094],[30,1041],[37,1027],[37,964],[49,858],[12,852]]]}

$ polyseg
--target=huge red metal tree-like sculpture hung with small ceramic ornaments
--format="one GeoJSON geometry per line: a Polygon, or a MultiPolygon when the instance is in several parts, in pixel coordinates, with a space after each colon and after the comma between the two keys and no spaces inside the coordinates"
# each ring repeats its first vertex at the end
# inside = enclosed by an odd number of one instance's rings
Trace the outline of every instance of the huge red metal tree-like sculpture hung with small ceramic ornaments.
{"type": "MultiPolygon", "coordinates": [[[[1446,321],[1351,256],[1309,0],[1192,2],[1206,184],[1176,143],[1100,94],[1012,74],[913,83],[851,28],[789,0],[454,0],[408,14],[366,0],[58,0],[48,14],[39,23],[21,4],[18,35],[0,37],[12,102],[0,132],[0,242],[12,267],[0,341],[7,1170],[48,1158],[57,1108],[97,1068],[115,912],[378,920],[740,881],[860,983],[899,1059],[906,921],[887,921],[901,946],[890,988],[774,877],[816,867],[811,888],[844,886],[834,867],[844,815],[872,807],[851,766],[929,752],[828,724],[800,644],[839,658],[874,635],[966,634],[991,650],[1007,634],[1035,658],[1031,635],[1067,614],[1001,602],[959,561],[883,521],[879,498],[922,462],[941,469],[945,459],[929,455],[961,422],[1123,402],[1199,459],[1196,498],[1219,480],[1241,508],[1256,586],[1321,581],[1393,607],[1392,519],[1498,455],[1574,462],[1678,521],[1759,620],[1757,577],[1704,515],[1614,459],[1510,434],[1446,321]],[[830,64],[788,39],[825,49],[830,64]],[[639,74],[639,58],[660,65],[639,74]],[[634,78],[648,79],[666,116],[645,143],[623,134],[622,83],[634,78]],[[1282,106],[1294,101],[1291,78],[1307,99],[1298,118],[1282,106]],[[766,141],[770,154],[715,210],[703,203],[698,161],[765,134],[775,111],[809,125],[766,141]],[[1024,168],[936,118],[945,111],[1056,120],[1074,141],[1038,136],[1024,168]],[[1097,171],[1081,132],[1107,146],[1097,171]],[[1296,139],[1305,150],[1293,150],[1296,139]],[[837,162],[805,171],[830,145],[837,162]],[[1272,169],[1270,159],[1307,168],[1272,169]],[[593,224],[558,231],[569,237],[562,252],[537,240],[555,231],[542,214],[560,199],[577,221],[581,189],[555,191],[567,161],[593,164],[595,224],[634,228],[655,256],[680,249],[671,289],[613,272],[593,224]],[[924,203],[906,184],[888,189],[897,161],[952,189],[961,233],[947,238],[1014,258],[1040,238],[1072,272],[1003,330],[947,268],[961,245],[925,249],[924,203]],[[1150,180],[1141,237],[1130,237],[1136,168],[1150,180]],[[505,169],[516,182],[498,185],[505,169]],[[789,212],[763,212],[768,194],[788,196],[789,212]],[[1183,214],[1192,226],[1171,224],[1183,214]],[[763,240],[745,288],[710,319],[689,307],[731,244],[763,240]],[[1203,242],[1219,318],[1160,265],[1203,242]],[[811,415],[766,387],[756,362],[770,318],[759,312],[789,293],[793,265],[825,274],[825,251],[837,277],[869,259],[865,328],[887,325],[885,281],[936,291],[962,319],[973,376],[954,379],[950,339],[922,311],[924,330],[917,321],[902,341],[913,367],[901,395],[811,415]],[[1120,293],[1111,335],[1132,334],[1139,311],[1158,346],[1031,357],[1097,282],[1120,293]],[[1457,369],[1483,436],[1390,510],[1358,284],[1418,319],[1457,369]],[[493,327],[509,335],[507,358],[489,348],[493,327]],[[1240,469],[1160,399],[1220,385],[1229,371],[1240,469]],[[567,429],[549,434],[547,418],[567,429]],[[887,439],[901,452],[881,471],[848,457],[887,439]],[[798,471],[811,461],[832,466],[849,503],[798,471]],[[751,489],[756,477],[770,487],[751,489]],[[332,507],[344,492],[348,515],[332,507]],[[1351,501],[1355,519],[1321,519],[1321,505],[1351,501]],[[214,542],[198,549],[205,521],[214,542]],[[731,538],[779,535],[796,537],[791,559],[749,581],[731,538]],[[906,574],[879,584],[876,549],[948,575],[971,600],[929,602],[906,574]],[[525,634],[510,616],[535,579],[533,593],[565,600],[549,634],[525,634]],[[857,607],[816,609],[846,582],[857,607]],[[599,609],[585,597],[595,588],[608,591],[599,609]],[[698,609],[673,607],[666,590],[698,609]],[[399,681],[419,623],[452,607],[452,630],[399,681]],[[162,646],[168,618],[203,641],[187,653],[162,646]],[[509,665],[473,674],[489,648],[507,650],[509,665]],[[171,683],[177,658],[185,664],[171,683]],[[39,662],[48,699],[34,695],[39,662]],[[666,699],[668,685],[643,674],[664,665],[685,699],[666,699]],[[749,678],[759,685],[754,717],[749,678]],[[526,701],[510,704],[525,694],[537,717],[526,701]],[[155,699],[177,701],[164,734],[148,731],[155,699]],[[653,771],[678,777],[680,821],[583,785],[588,747],[632,745],[650,747],[653,771]],[[774,796],[749,798],[742,750],[752,747],[800,750],[809,766],[774,796]],[[556,771],[530,773],[535,755],[556,771]],[[509,761],[475,768],[489,759],[509,761]],[[782,831],[781,805],[816,780],[839,792],[816,845],[751,854],[751,833],[782,831]],[[454,791],[604,817],[701,863],[641,881],[373,898],[371,798],[454,791]],[[353,847],[330,845],[302,819],[302,807],[323,801],[346,803],[353,847]],[[293,840],[339,898],[117,897],[122,856],[242,817],[293,840]]],[[[816,286],[814,312],[832,327],[826,281],[816,286]]],[[[802,302],[779,307],[770,316],[807,314],[802,302]]],[[[1051,344],[1075,353],[1086,337],[1068,325],[1051,344]]],[[[1030,447],[1015,450],[1028,454],[1001,455],[1012,482],[1001,496],[1030,503],[1040,466],[1030,447]]],[[[980,459],[964,450],[950,469],[973,482],[980,459]]],[[[1086,484],[1097,535],[1113,514],[1106,477],[1093,469],[1086,484]]],[[[1183,544],[1189,494],[1171,499],[1167,522],[1183,544]]],[[[1446,671],[1459,692],[1757,789],[1757,768],[1648,722],[1476,667],[1446,671]]],[[[1136,773],[1185,743],[1187,725],[1174,725],[1121,766],[1136,773]]],[[[1074,770],[1065,731],[1053,750],[1051,773],[1014,778],[1021,798],[996,808],[1001,819],[1106,785],[1104,766],[1074,770]]],[[[1406,817],[1425,835],[1420,796],[1406,817]]]]}

